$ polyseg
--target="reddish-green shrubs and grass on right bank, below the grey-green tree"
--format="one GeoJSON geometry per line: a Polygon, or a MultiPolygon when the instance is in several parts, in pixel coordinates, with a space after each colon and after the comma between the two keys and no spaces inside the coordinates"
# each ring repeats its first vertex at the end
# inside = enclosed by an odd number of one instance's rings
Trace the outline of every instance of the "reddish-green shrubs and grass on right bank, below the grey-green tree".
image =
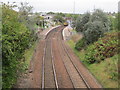
{"type": "Polygon", "coordinates": [[[73,40],[68,41],[75,54],[104,88],[118,88],[119,46],[118,38],[115,36],[118,35],[117,33],[120,32],[109,32],[107,36],[81,50],[75,49],[76,45],[73,40]]]}

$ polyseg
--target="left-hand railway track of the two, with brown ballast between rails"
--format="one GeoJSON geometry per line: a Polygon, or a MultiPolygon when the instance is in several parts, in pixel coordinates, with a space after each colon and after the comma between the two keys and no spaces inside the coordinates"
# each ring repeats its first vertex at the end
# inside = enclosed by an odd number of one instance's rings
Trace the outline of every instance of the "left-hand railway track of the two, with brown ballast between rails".
{"type": "Polygon", "coordinates": [[[56,34],[56,28],[46,36],[46,43],[44,47],[44,55],[42,60],[42,89],[56,88],[58,89],[58,82],[56,78],[56,70],[54,65],[54,57],[52,54],[51,38],[56,34]]]}

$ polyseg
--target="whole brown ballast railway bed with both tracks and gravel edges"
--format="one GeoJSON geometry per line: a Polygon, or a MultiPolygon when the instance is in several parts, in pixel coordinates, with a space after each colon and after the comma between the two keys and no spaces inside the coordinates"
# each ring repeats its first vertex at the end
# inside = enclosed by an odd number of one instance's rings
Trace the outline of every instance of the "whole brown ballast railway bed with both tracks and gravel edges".
{"type": "Polygon", "coordinates": [[[31,88],[102,88],[63,40],[60,26],[40,41],[34,55],[31,88]]]}

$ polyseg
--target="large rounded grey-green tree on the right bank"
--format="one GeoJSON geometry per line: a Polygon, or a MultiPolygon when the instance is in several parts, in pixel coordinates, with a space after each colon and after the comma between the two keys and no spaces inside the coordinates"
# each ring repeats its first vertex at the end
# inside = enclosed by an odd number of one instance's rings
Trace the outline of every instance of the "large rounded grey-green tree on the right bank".
{"type": "Polygon", "coordinates": [[[105,32],[110,31],[111,23],[107,15],[102,10],[95,10],[87,24],[84,25],[84,36],[86,43],[90,44],[102,37],[105,32]]]}

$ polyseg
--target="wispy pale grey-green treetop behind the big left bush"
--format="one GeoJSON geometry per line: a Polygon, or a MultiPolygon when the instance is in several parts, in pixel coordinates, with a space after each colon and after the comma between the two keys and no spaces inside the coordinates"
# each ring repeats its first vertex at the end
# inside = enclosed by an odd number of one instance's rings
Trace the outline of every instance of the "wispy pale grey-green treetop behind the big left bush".
{"type": "Polygon", "coordinates": [[[34,25],[36,24],[36,19],[32,17],[32,9],[33,7],[30,6],[27,2],[20,3],[20,7],[18,7],[18,17],[19,22],[22,22],[26,25],[26,27],[30,30],[34,30],[34,25]]]}

